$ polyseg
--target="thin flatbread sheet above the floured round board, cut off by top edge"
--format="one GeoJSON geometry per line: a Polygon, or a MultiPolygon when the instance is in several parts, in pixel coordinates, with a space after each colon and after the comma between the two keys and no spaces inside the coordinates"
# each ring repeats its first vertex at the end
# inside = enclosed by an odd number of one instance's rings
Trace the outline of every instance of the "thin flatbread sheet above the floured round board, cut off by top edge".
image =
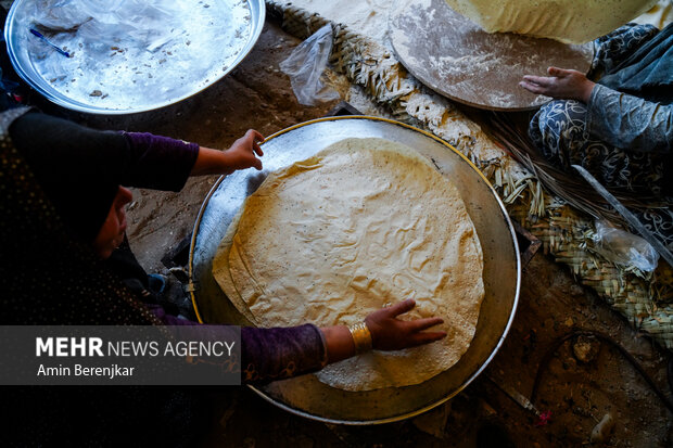
{"type": "Polygon", "coordinates": [[[446,0],[487,33],[518,33],[566,43],[607,35],[658,0],[446,0]]]}

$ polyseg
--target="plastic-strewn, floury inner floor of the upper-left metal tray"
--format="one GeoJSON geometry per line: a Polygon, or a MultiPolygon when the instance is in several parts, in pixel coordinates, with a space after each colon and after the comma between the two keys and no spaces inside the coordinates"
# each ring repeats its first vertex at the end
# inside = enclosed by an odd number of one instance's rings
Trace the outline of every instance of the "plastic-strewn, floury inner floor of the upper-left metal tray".
{"type": "Polygon", "coordinates": [[[245,0],[24,0],[21,7],[20,43],[40,76],[74,101],[115,110],[202,90],[229,68],[251,30],[245,0]]]}

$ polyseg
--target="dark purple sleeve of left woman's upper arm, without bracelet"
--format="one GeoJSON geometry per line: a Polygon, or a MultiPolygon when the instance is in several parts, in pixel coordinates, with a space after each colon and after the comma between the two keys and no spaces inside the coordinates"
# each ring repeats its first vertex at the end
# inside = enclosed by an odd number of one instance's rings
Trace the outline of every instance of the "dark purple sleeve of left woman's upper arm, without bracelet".
{"type": "Polygon", "coordinates": [[[123,184],[180,191],[196,162],[199,145],[148,132],[122,132],[128,142],[123,184]]]}

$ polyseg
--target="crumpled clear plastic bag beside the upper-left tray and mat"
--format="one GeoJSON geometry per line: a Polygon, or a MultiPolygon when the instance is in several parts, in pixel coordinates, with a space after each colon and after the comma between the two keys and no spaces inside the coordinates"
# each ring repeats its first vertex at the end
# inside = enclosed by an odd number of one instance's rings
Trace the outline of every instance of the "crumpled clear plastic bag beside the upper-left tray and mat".
{"type": "Polygon", "coordinates": [[[297,46],[290,56],[280,63],[280,69],[290,76],[292,90],[300,104],[307,106],[336,100],[336,90],[320,81],[332,51],[332,26],[325,25],[297,46]]]}

